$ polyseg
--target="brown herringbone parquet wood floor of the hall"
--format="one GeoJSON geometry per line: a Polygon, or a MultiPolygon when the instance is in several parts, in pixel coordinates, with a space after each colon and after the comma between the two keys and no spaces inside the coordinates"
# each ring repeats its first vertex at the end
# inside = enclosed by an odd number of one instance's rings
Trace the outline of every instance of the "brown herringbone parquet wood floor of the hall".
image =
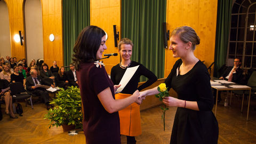
{"type": "MultiPolygon", "coordinates": [[[[63,133],[61,127],[51,127],[49,121],[43,119],[46,107],[43,103],[35,103],[34,109],[23,106],[23,116],[11,119],[4,114],[0,121],[0,143],[85,143],[83,132],[70,136],[63,133]]],[[[246,121],[247,105],[240,113],[241,100],[233,99],[232,107],[224,107],[218,104],[217,119],[219,123],[218,143],[256,143],[256,100],[252,100],[249,121],[246,121]]],[[[214,105],[215,106],[215,105],[214,105]]],[[[137,143],[169,143],[173,118],[176,108],[170,108],[166,112],[165,132],[161,119],[162,111],[159,107],[141,111],[142,134],[136,137],[137,143]]],[[[210,130],[209,130],[210,131],[210,130]]],[[[122,135],[122,143],[126,143],[126,137],[122,135]]]]}

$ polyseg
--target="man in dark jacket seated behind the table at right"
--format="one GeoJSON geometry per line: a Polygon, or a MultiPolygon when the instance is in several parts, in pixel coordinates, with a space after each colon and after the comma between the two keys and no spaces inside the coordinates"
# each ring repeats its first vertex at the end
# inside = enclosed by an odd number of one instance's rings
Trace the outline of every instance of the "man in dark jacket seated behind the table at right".
{"type": "Polygon", "coordinates": [[[221,75],[220,79],[225,79],[229,82],[240,83],[243,78],[243,70],[240,68],[241,61],[236,58],[234,60],[234,66],[228,67],[221,75]]]}

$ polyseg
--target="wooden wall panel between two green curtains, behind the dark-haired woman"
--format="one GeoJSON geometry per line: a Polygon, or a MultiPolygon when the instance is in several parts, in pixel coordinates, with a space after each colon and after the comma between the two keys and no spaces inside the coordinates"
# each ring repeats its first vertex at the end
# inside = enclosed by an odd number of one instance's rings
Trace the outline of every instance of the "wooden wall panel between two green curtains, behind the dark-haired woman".
{"type": "MultiPolygon", "coordinates": [[[[90,2],[90,25],[98,26],[108,34],[106,42],[107,50],[104,53],[118,53],[117,47],[114,46],[113,25],[116,25],[116,30],[121,33],[120,5],[121,3],[119,0],[91,0],[90,2]]],[[[119,61],[119,54],[117,57],[110,57],[109,59],[103,60],[108,74],[110,74],[111,68],[119,63],[119,61]]]]}

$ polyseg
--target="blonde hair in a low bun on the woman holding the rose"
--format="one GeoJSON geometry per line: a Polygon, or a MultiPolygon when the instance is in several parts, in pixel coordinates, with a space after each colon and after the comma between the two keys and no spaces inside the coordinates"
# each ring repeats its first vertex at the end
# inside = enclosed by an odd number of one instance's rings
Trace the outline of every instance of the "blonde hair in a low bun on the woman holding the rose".
{"type": "Polygon", "coordinates": [[[197,36],[196,31],[191,27],[182,26],[175,28],[172,31],[171,36],[173,35],[178,35],[181,41],[184,43],[191,42],[193,50],[196,49],[196,45],[200,44],[200,38],[197,36]]]}

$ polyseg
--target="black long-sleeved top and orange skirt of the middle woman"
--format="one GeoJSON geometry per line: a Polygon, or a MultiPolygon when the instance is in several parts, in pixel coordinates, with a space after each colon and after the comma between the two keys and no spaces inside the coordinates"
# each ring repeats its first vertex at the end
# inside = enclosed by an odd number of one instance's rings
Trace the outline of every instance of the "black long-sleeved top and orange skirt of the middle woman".
{"type": "MultiPolygon", "coordinates": [[[[138,62],[132,61],[128,68],[135,66],[139,66],[139,68],[131,77],[130,81],[126,84],[121,93],[117,93],[115,95],[116,99],[124,99],[130,97],[131,94],[133,94],[133,92],[136,90],[140,91],[157,81],[155,74],[138,62]],[[146,76],[148,81],[138,87],[140,76],[142,75],[146,76]]],[[[125,71],[126,68],[121,68],[119,64],[111,69],[110,78],[114,85],[118,85],[120,83],[125,71]]],[[[137,136],[141,134],[140,107],[137,103],[132,103],[125,109],[119,110],[119,119],[121,134],[129,136],[137,136]]]]}

